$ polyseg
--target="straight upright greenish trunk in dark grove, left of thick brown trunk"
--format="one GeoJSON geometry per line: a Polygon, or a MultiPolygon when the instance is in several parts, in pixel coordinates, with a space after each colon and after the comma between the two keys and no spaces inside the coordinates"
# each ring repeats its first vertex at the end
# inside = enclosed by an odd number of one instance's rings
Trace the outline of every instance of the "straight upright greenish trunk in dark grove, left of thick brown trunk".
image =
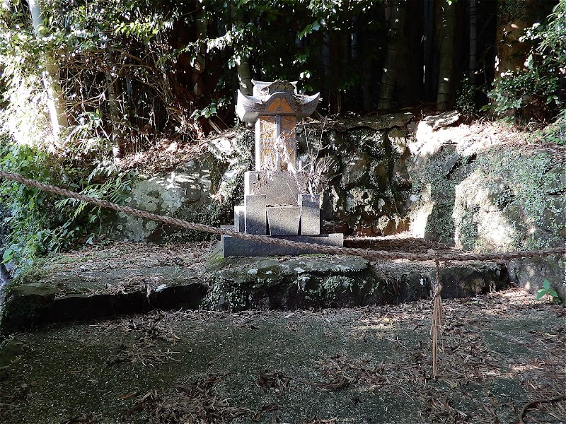
{"type": "Polygon", "coordinates": [[[441,3],[440,66],[438,77],[437,109],[446,110],[452,96],[454,57],[454,3],[441,3]]]}

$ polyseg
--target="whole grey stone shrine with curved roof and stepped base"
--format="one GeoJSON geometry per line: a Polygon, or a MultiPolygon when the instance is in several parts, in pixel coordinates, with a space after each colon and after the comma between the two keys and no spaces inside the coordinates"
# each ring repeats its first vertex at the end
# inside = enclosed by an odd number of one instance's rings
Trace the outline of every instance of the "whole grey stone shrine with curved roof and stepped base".
{"type": "MultiPolygon", "coordinates": [[[[342,246],[340,233],[320,234],[320,196],[306,193],[306,173],[296,163],[296,123],[318,105],[319,94],[302,95],[289,81],[253,81],[253,95],[238,90],[236,113],[255,124],[255,170],[244,176],[244,204],[234,208],[234,225],[247,234],[342,246]]],[[[224,257],[312,253],[222,236],[224,257]]]]}

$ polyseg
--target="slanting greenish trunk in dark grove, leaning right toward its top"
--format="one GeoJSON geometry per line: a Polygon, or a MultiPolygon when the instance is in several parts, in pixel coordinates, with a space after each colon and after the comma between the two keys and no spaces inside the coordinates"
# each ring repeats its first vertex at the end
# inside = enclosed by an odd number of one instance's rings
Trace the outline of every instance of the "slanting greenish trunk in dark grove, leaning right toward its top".
{"type": "Polygon", "coordinates": [[[400,64],[400,56],[405,45],[405,0],[391,2],[391,16],[389,18],[390,27],[387,43],[385,65],[383,66],[383,76],[379,86],[379,110],[391,109],[391,99],[393,99],[393,89],[395,88],[395,78],[400,64]]]}

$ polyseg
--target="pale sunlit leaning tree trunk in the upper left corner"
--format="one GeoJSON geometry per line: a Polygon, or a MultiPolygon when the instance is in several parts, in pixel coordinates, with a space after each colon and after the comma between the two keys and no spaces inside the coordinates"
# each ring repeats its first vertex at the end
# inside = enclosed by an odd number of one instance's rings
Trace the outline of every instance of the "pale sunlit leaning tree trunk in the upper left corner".
{"type": "MultiPolygon", "coordinates": [[[[33,22],[33,30],[35,35],[40,37],[42,34],[42,10],[37,0],[28,0],[28,6],[33,22]]],[[[43,83],[47,90],[47,108],[50,114],[50,122],[54,137],[54,146],[59,146],[59,134],[62,128],[67,128],[69,122],[67,119],[67,110],[65,110],[65,101],[63,92],[59,85],[59,68],[55,64],[54,57],[50,52],[45,52],[45,73],[43,74],[43,83]]]]}

